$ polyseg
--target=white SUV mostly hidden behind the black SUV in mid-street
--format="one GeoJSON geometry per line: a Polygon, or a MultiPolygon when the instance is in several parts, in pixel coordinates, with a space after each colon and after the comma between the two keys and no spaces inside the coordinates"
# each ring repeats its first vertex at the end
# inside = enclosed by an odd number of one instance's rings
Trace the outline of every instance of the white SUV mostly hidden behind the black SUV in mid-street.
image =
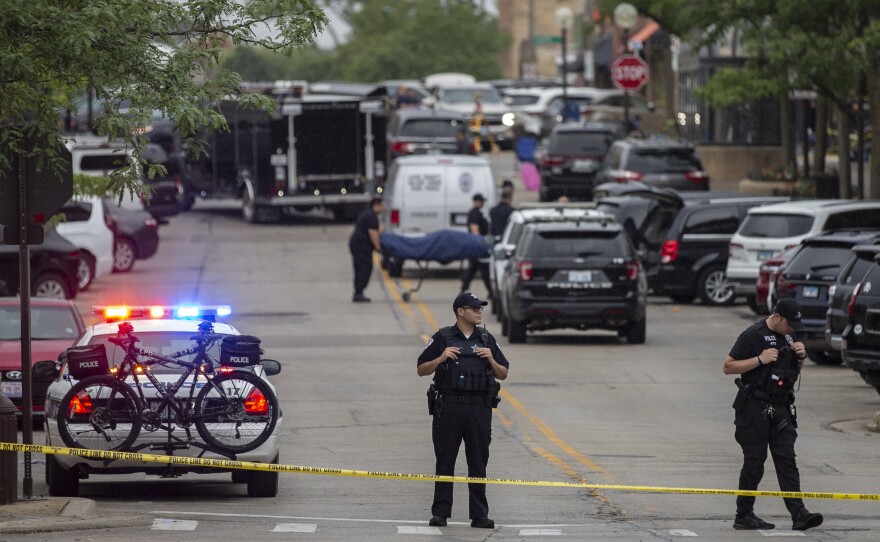
{"type": "Polygon", "coordinates": [[[513,256],[526,224],[539,221],[578,221],[600,216],[592,203],[537,203],[520,205],[507,219],[507,227],[489,254],[489,276],[492,284],[492,312],[501,320],[501,284],[507,273],[507,260],[513,256]]]}

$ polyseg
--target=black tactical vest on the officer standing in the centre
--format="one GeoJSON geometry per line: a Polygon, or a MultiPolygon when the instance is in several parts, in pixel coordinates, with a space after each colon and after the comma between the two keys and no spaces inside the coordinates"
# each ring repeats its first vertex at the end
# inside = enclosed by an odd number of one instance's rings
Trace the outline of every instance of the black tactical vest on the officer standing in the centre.
{"type": "Polygon", "coordinates": [[[446,346],[459,349],[458,359],[441,363],[434,373],[434,385],[441,394],[451,395],[495,395],[500,386],[489,362],[477,355],[476,349],[489,348],[489,333],[475,330],[465,339],[452,326],[440,329],[446,346]]]}

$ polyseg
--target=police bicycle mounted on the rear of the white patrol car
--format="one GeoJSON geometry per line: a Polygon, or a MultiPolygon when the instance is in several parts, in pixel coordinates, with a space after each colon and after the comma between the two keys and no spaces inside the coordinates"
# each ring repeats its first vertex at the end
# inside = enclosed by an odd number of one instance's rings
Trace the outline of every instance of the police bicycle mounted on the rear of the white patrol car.
{"type": "Polygon", "coordinates": [[[278,399],[265,380],[242,370],[259,364],[259,339],[215,334],[211,322],[205,321],[192,340],[193,347],[158,354],[137,347],[133,326],[123,322],[117,336],[109,338],[125,349],[117,367],[109,367],[103,344],[68,349],[68,372],[78,382],[58,411],[64,443],[116,451],[151,447],[166,453],[195,446],[232,458],[263,444],[278,422],[278,399]],[[219,361],[208,354],[217,341],[219,361]],[[180,359],[193,354],[191,361],[180,359]],[[162,383],[152,372],[155,365],[180,367],[183,372],[175,382],[162,383]],[[155,397],[144,393],[148,383],[155,397]],[[178,396],[185,389],[188,392],[178,396]],[[175,425],[185,437],[174,434],[175,425]],[[204,443],[193,437],[193,425],[204,443]],[[141,432],[160,430],[168,435],[164,443],[150,439],[132,446],[141,432]]]}

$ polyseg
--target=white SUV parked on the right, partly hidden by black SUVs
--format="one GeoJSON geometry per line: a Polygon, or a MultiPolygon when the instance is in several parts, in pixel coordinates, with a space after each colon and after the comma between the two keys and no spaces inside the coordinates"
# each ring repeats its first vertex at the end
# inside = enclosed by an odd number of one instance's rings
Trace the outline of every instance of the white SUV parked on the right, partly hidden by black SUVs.
{"type": "Polygon", "coordinates": [[[727,279],[756,312],[761,262],[823,231],[880,228],[880,201],[803,200],[749,210],[730,240],[727,279]]]}

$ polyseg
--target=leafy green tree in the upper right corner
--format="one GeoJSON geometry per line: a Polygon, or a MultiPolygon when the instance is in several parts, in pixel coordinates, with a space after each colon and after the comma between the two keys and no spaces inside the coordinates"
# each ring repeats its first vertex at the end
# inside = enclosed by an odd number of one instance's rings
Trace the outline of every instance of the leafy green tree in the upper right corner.
{"type": "MultiPolygon", "coordinates": [[[[691,36],[698,44],[711,43],[727,31],[740,33],[749,60],[742,70],[715,72],[702,90],[710,103],[729,105],[810,89],[844,115],[861,115],[869,122],[873,115],[872,125],[877,126],[880,3],[876,0],[815,0],[809,6],[800,0],[631,1],[669,32],[691,36]],[[853,111],[853,103],[861,99],[867,99],[870,113],[853,111]]],[[[615,4],[605,0],[603,7],[613,9],[615,4]]],[[[842,142],[848,151],[845,135],[842,142]]],[[[876,138],[871,144],[873,151],[880,150],[876,138]]],[[[873,198],[880,197],[876,162],[870,173],[873,198]]],[[[847,173],[841,171],[842,182],[848,183],[847,173]]]]}

